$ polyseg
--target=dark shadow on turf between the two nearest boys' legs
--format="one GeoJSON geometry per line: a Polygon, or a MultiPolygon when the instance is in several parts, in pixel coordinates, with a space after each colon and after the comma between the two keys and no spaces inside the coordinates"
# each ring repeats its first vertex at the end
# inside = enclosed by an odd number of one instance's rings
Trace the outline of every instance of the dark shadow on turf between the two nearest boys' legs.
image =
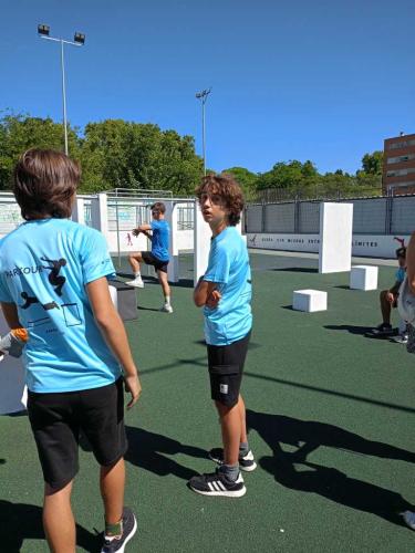
{"type": "Polygon", "coordinates": [[[170,459],[170,456],[184,453],[190,457],[208,459],[204,449],[180,444],[167,436],[132,426],[127,426],[125,430],[128,439],[125,460],[160,477],[174,474],[183,480],[189,480],[197,474],[195,470],[170,459]]]}

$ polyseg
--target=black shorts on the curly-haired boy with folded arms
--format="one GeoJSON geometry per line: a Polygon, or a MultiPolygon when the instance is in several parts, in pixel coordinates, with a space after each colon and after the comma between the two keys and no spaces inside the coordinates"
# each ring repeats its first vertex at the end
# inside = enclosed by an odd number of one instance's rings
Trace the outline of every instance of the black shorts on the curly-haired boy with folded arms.
{"type": "Polygon", "coordinates": [[[211,398],[227,407],[238,403],[250,334],[229,345],[207,345],[211,398]]]}

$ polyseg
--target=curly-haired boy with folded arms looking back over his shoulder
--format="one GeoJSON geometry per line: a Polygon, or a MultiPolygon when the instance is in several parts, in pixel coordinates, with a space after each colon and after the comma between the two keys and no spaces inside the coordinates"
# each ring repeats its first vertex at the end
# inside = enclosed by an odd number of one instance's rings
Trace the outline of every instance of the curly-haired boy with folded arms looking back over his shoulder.
{"type": "Polygon", "coordinates": [[[191,478],[189,487],[204,495],[239,498],[247,491],[240,469],[257,467],[239,393],[252,326],[248,250],[235,228],[243,197],[229,175],[205,177],[196,195],[212,238],[208,267],[195,288],[194,301],[204,307],[211,398],[219,413],[224,447],[209,452],[219,465],[217,471],[191,478]]]}

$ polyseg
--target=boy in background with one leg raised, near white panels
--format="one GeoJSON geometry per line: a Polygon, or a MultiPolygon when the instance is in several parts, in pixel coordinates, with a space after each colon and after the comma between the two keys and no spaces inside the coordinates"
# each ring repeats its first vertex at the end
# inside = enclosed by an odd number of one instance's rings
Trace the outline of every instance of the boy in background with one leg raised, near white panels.
{"type": "Polygon", "coordinates": [[[153,221],[141,225],[133,230],[137,237],[141,232],[152,241],[152,251],[137,251],[128,255],[131,268],[134,272],[134,280],[126,282],[129,286],[144,288],[139,263],[144,261],[147,265],[153,265],[157,271],[158,281],[163,289],[164,304],[160,311],[173,313],[170,304],[170,286],[167,280],[167,265],[169,261],[168,242],[170,227],[165,220],[166,206],[162,201],[156,201],[152,206],[153,221]],[[149,233],[152,232],[152,234],[149,233]]]}

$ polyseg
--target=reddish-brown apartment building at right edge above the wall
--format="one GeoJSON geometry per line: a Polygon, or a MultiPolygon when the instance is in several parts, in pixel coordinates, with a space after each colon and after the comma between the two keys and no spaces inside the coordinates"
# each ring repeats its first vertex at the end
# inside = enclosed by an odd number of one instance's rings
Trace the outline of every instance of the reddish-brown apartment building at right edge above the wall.
{"type": "Polygon", "coordinates": [[[415,194],[415,134],[386,138],[383,158],[383,194],[415,194]]]}

